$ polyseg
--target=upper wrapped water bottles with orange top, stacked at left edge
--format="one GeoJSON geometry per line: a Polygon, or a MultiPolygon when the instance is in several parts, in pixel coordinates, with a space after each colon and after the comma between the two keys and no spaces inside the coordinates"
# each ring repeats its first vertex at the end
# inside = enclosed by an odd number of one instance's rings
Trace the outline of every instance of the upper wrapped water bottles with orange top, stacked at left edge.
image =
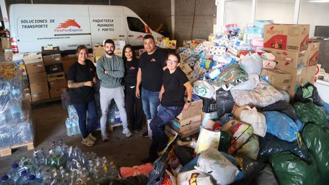
{"type": "Polygon", "coordinates": [[[0,63],[0,125],[24,121],[22,72],[14,62],[0,63]]]}

